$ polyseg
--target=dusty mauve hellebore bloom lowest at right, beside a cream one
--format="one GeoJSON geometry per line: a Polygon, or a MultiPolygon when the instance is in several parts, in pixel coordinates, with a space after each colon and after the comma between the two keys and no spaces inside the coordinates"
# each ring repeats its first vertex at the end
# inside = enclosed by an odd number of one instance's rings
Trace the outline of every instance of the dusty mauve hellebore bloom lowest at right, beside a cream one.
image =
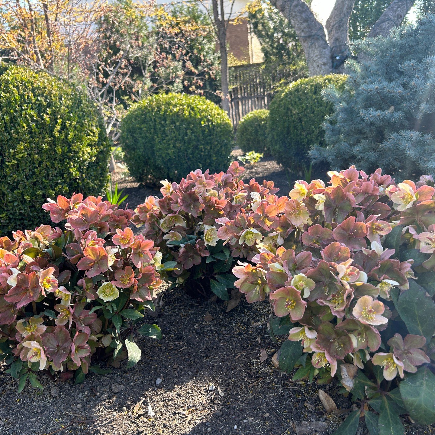
{"type": "Polygon", "coordinates": [[[402,335],[395,334],[387,344],[393,348],[393,355],[403,362],[403,368],[406,371],[415,373],[416,365],[430,362],[429,357],[420,349],[426,344],[426,339],[421,335],[408,334],[402,338],[402,335]]]}

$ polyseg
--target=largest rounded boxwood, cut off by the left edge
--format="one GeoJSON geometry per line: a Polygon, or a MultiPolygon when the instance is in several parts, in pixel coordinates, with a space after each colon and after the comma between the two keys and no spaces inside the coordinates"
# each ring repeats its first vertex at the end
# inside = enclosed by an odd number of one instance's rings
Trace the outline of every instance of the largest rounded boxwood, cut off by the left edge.
{"type": "Polygon", "coordinates": [[[110,143],[85,92],[2,64],[0,95],[0,235],[49,222],[49,197],[104,191],[110,143]]]}

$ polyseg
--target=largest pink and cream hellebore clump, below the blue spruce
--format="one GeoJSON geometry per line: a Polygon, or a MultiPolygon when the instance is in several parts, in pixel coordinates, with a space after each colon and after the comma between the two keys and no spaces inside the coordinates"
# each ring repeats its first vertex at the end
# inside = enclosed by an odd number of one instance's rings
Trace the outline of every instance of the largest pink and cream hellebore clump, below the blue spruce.
{"type": "Polygon", "coordinates": [[[268,296],[272,337],[288,331],[281,369],[341,380],[361,403],[341,433],[354,434],[362,412],[372,435],[403,434],[398,414],[435,422],[434,182],[329,174],[328,186],[261,193],[218,236],[250,260],[234,284],[248,302],[268,296]]]}

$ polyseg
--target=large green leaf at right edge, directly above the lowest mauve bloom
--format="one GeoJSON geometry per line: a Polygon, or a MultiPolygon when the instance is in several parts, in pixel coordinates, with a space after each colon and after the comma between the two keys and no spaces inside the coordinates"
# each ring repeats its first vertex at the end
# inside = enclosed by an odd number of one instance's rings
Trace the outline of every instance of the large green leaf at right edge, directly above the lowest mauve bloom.
{"type": "Polygon", "coordinates": [[[409,280],[409,289],[399,296],[396,309],[410,334],[423,335],[427,342],[431,340],[435,331],[435,303],[413,279],[409,280]]]}

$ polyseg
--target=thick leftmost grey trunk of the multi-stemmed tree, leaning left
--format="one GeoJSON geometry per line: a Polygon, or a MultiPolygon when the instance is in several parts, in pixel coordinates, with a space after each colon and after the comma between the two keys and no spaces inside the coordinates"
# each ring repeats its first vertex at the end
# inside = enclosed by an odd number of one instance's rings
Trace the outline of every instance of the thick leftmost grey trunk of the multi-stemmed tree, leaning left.
{"type": "Polygon", "coordinates": [[[271,0],[286,17],[301,40],[310,76],[325,75],[332,71],[331,48],[325,29],[303,0],[271,0]]]}

